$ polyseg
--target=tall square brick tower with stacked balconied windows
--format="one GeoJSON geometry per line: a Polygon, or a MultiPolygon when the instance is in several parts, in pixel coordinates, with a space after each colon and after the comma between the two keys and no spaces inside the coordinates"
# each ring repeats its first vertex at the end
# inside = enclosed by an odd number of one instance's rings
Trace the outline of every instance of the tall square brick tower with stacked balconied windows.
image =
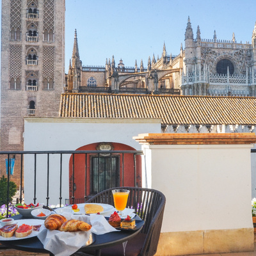
{"type": "Polygon", "coordinates": [[[24,117],[58,116],[65,83],[64,38],[65,0],[2,0],[2,151],[23,150],[24,117]]]}

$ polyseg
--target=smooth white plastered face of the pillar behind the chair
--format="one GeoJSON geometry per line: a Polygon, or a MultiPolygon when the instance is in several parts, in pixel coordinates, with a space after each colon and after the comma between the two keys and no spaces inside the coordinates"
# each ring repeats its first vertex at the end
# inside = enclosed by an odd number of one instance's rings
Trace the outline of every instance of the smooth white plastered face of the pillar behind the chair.
{"type": "Polygon", "coordinates": [[[251,148],[143,145],[147,183],[166,195],[161,232],[252,228],[251,148]]]}

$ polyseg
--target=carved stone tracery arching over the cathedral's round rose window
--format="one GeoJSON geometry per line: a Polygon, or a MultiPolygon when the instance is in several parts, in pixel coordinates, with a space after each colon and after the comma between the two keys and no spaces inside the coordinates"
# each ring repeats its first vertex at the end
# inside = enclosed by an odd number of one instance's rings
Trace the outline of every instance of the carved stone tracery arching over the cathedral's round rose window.
{"type": "Polygon", "coordinates": [[[246,67],[252,63],[251,53],[249,49],[239,50],[221,50],[204,47],[202,49],[201,58],[203,63],[209,66],[211,74],[216,73],[216,65],[221,59],[228,59],[234,63],[236,74],[246,74],[246,67]]]}

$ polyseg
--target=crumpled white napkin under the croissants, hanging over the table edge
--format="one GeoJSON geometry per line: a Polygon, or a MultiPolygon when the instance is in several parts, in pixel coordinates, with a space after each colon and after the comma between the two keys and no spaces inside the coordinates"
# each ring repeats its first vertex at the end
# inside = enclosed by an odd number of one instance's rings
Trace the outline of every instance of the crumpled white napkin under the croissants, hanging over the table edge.
{"type": "Polygon", "coordinates": [[[92,225],[92,228],[88,232],[61,232],[58,230],[49,230],[44,225],[40,228],[38,239],[44,244],[44,248],[55,256],[69,256],[76,252],[79,248],[86,245],[92,233],[101,235],[118,231],[111,227],[102,215],[92,214],[91,216],[87,216],[73,214],[71,219],[85,221],[92,225]]]}

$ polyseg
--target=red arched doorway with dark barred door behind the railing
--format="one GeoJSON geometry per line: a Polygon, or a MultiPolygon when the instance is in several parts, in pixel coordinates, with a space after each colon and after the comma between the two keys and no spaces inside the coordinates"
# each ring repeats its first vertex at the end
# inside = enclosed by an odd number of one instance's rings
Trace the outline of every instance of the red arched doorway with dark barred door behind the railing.
{"type": "Polygon", "coordinates": [[[102,154],[100,147],[113,151],[132,150],[122,143],[92,143],[77,148],[93,153],[73,154],[69,161],[69,199],[81,203],[100,191],[116,186],[141,187],[141,156],[127,153],[102,154]],[[134,161],[135,160],[135,161],[134,161]],[[136,168],[134,168],[136,167],[136,168]],[[134,172],[136,170],[136,173],[134,172]],[[73,185],[74,184],[74,185],[73,185]]]}

